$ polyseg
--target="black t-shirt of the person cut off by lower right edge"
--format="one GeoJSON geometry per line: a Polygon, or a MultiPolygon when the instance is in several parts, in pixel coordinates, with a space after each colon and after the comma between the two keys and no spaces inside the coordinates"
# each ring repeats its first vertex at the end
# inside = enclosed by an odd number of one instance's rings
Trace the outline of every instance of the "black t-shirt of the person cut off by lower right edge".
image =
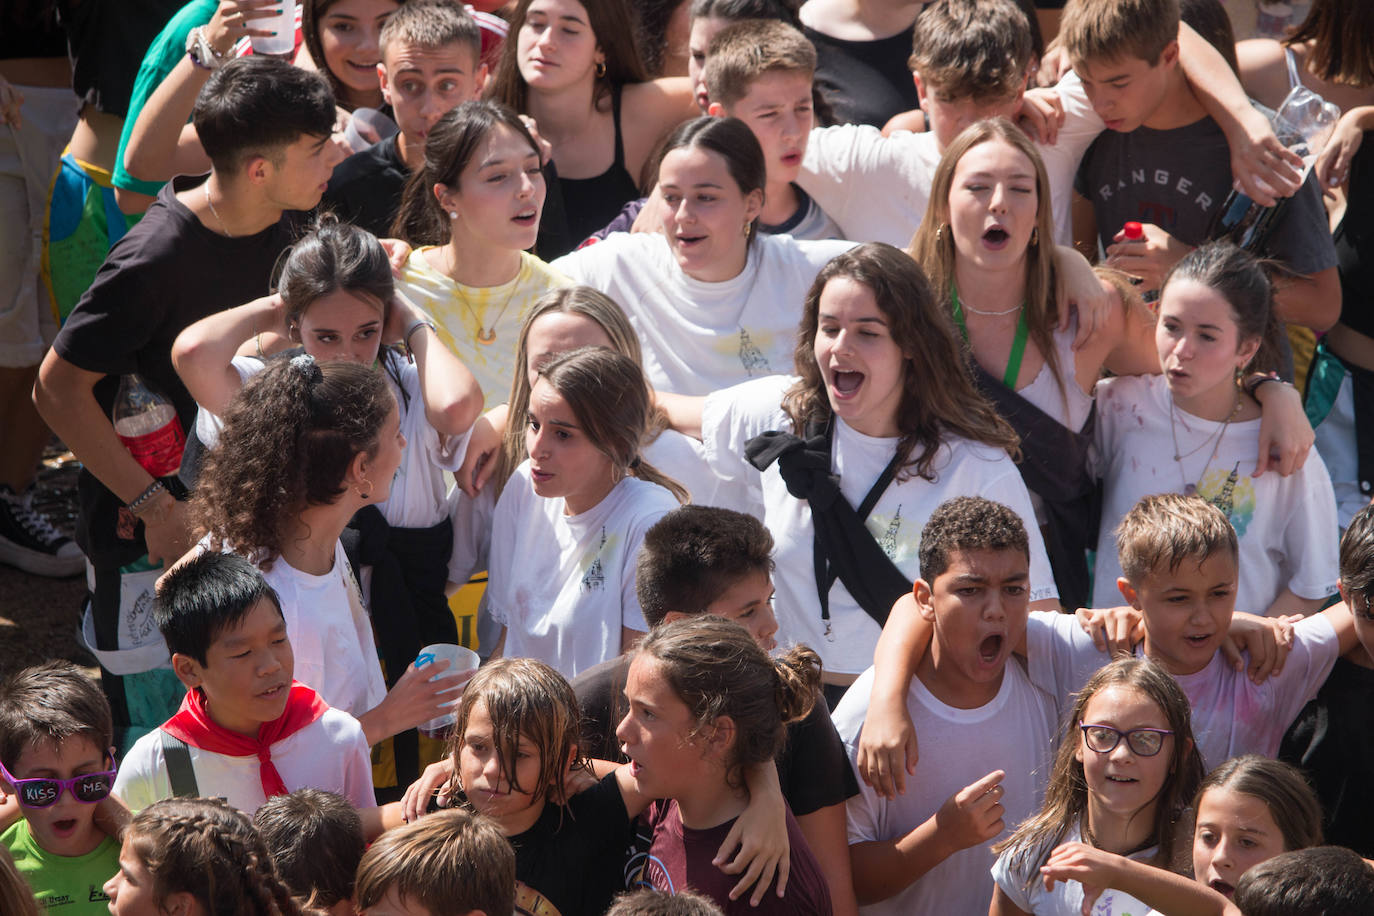
{"type": "Polygon", "coordinates": [[[1374,856],[1374,670],[1336,659],[1316,699],[1283,736],[1279,759],[1303,768],[1322,801],[1326,842],[1374,856]]]}

